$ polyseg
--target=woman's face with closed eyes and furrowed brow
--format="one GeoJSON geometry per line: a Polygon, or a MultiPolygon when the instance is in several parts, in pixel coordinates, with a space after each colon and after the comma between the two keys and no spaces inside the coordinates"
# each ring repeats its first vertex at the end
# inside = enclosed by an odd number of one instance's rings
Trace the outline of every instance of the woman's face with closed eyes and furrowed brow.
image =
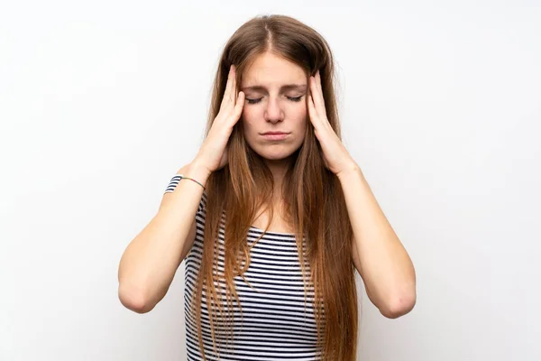
{"type": "Polygon", "coordinates": [[[268,161],[286,159],[304,141],[307,75],[297,64],[266,52],[243,74],[244,137],[268,161]],[[282,135],[265,135],[283,132],[282,135]]]}

